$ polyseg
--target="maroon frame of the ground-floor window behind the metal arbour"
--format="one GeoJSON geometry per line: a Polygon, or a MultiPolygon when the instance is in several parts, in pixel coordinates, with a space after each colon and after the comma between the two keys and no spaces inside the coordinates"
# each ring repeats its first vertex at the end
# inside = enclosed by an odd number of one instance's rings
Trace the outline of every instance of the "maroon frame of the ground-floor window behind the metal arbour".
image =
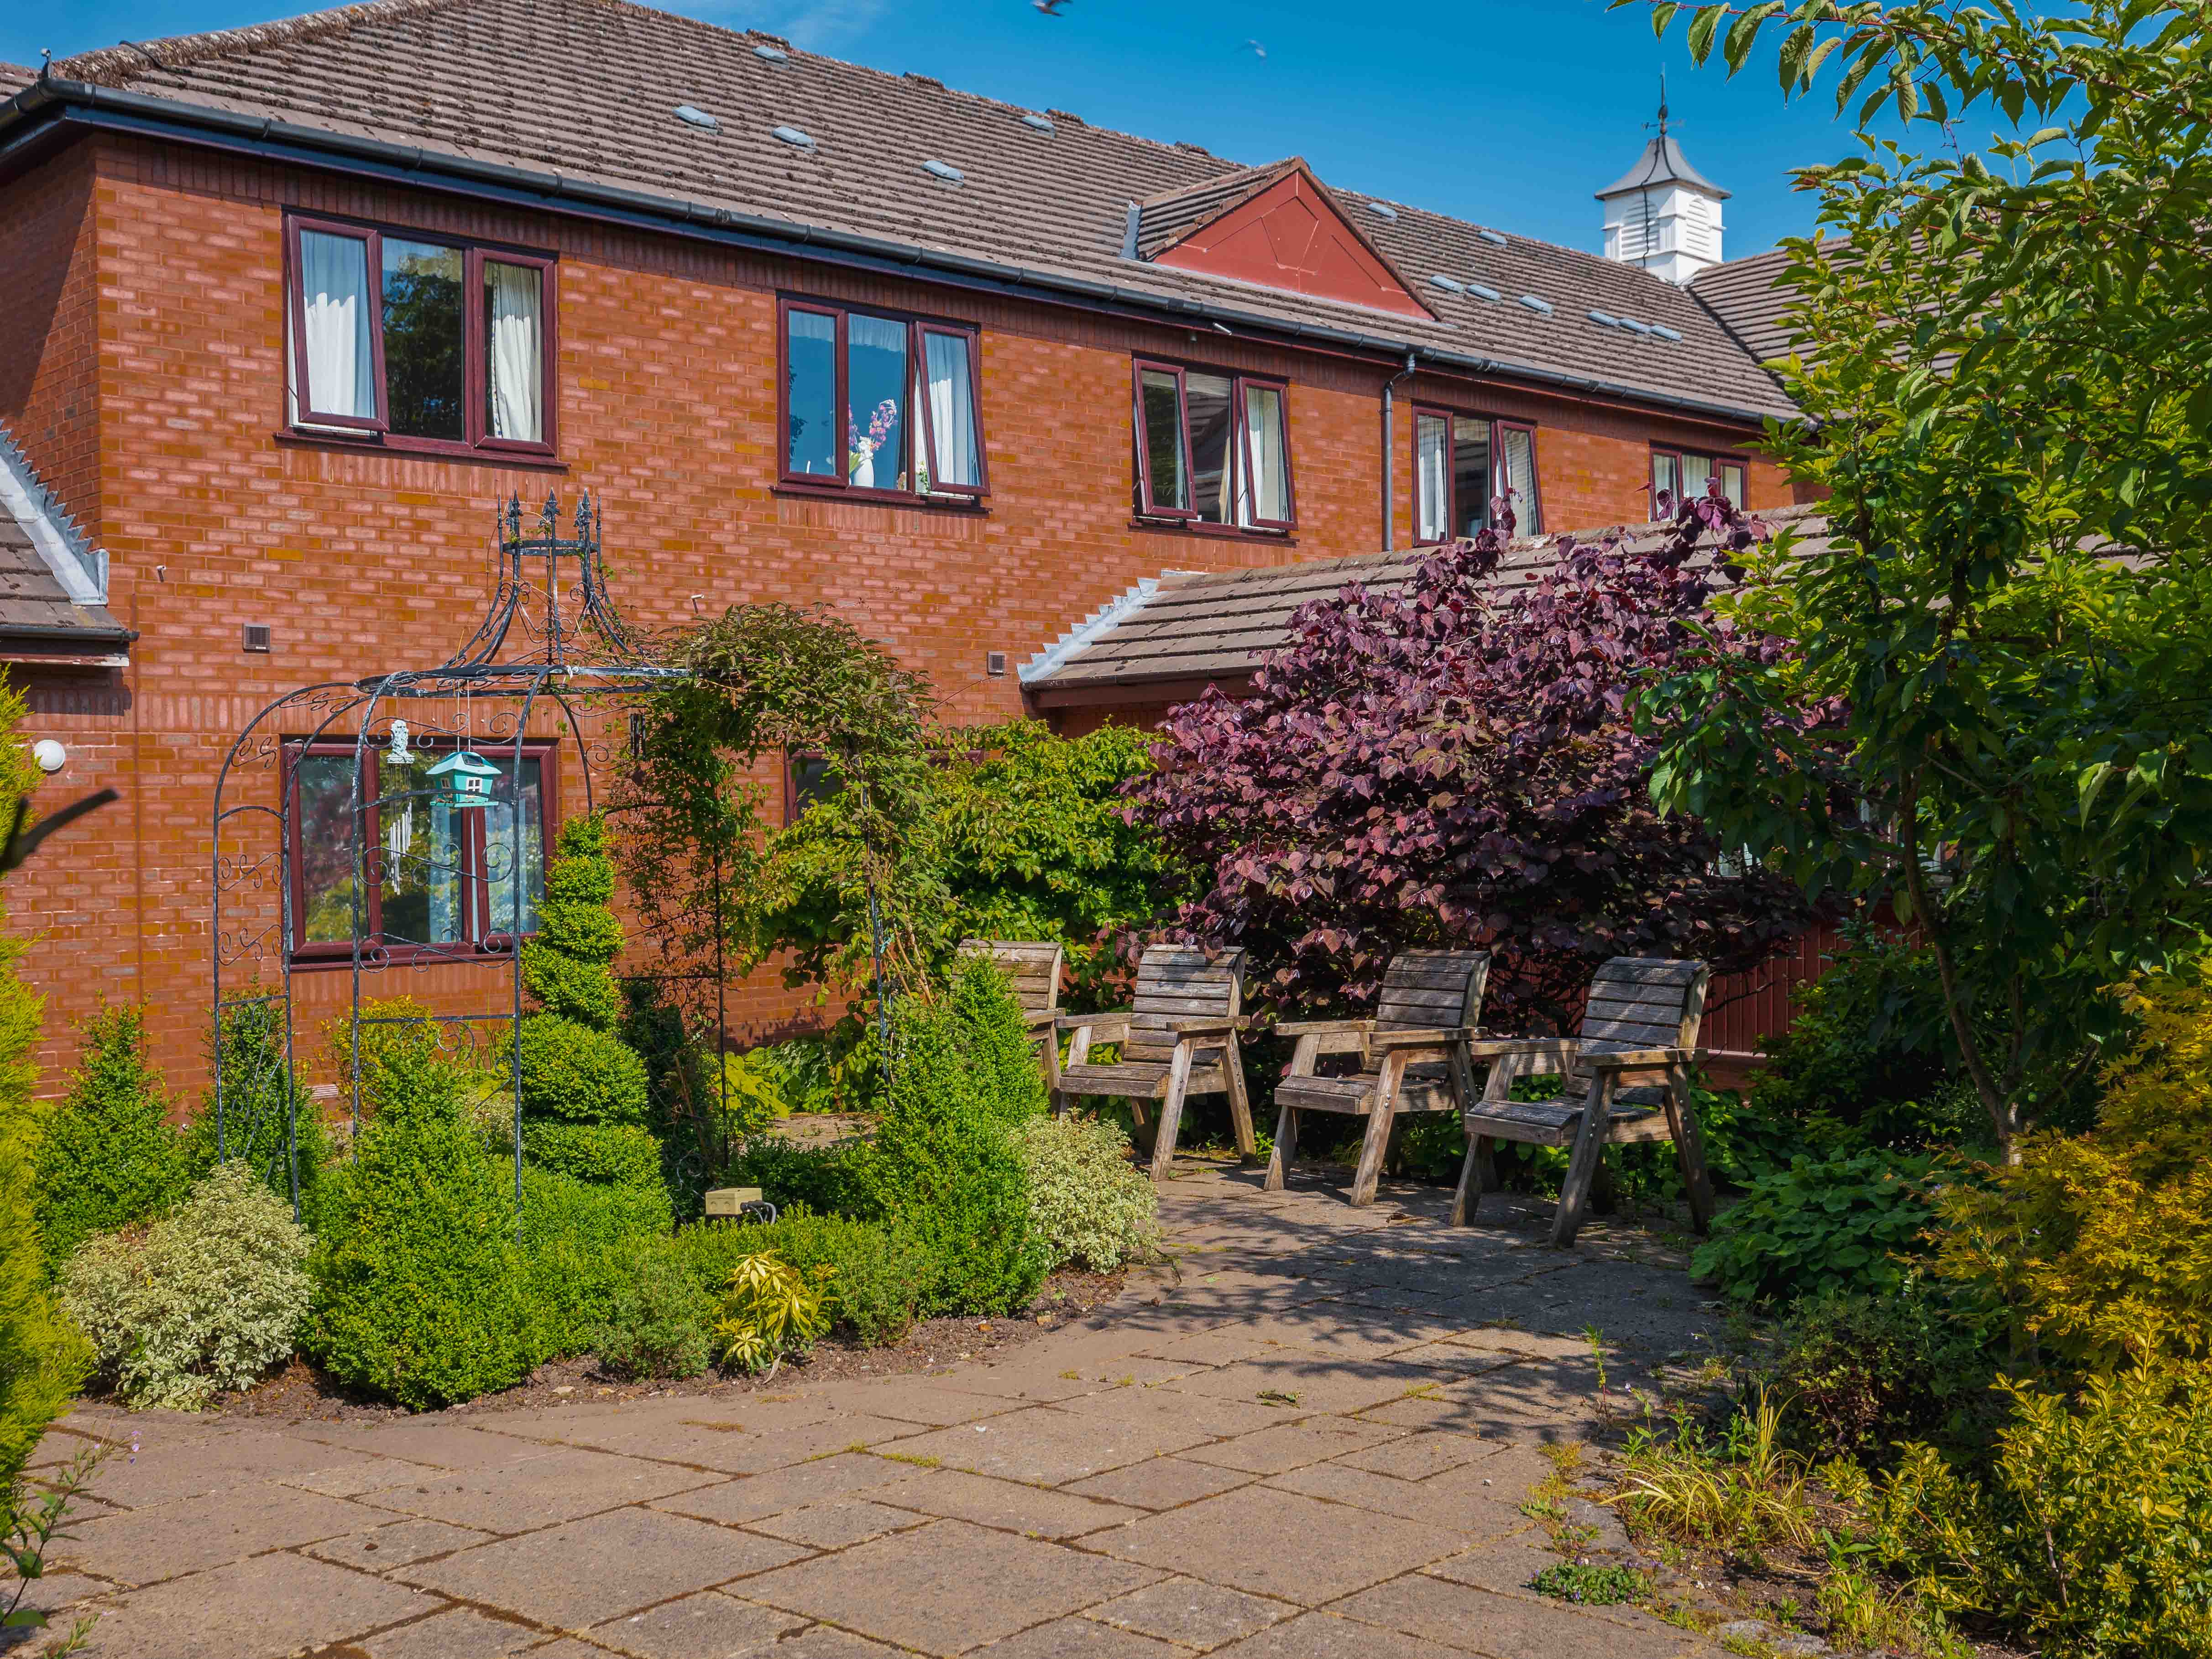
{"type": "MultiPolygon", "coordinates": [[[[416,739],[416,752],[449,754],[456,745],[449,739],[416,739]]],[[[349,940],[307,940],[307,845],[301,834],[299,763],[307,759],[352,759],[354,739],[285,739],[283,743],[283,790],[285,790],[285,880],[292,885],[292,938],[285,940],[296,967],[343,964],[354,960],[349,940]]],[[[372,830],[380,825],[378,812],[378,748],[363,745],[361,754],[361,814],[372,830]]],[[[513,759],[511,741],[498,743],[487,759],[513,759]]],[[[560,801],[560,743],[531,739],[522,745],[524,761],[538,761],[538,832],[542,843],[542,867],[553,863],[555,805],[560,801]]],[[[385,962],[414,960],[467,960],[478,956],[507,956],[515,949],[511,933],[491,931],[491,880],[484,874],[484,814],[469,810],[462,814],[467,834],[462,838],[462,938],[431,945],[425,940],[385,940],[383,883],[376,876],[378,841],[372,836],[363,845],[363,867],[367,878],[367,933],[363,951],[376,951],[385,962]]],[[[524,936],[529,938],[529,936],[524,936]]]]}

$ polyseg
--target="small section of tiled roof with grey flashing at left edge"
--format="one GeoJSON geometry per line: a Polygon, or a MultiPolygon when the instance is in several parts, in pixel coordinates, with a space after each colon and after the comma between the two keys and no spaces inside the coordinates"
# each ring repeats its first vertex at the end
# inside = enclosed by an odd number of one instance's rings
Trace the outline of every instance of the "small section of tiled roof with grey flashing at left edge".
{"type": "Polygon", "coordinates": [[[102,604],[106,571],[0,427],[0,659],[119,664],[131,630],[102,604]]]}

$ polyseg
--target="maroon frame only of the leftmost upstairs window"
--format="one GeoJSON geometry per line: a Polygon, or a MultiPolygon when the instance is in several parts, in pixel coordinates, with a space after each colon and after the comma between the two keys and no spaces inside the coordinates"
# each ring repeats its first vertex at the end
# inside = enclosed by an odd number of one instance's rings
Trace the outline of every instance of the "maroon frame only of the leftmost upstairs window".
{"type": "Polygon", "coordinates": [[[292,316],[292,394],[296,398],[296,409],[288,411],[288,425],[292,431],[305,436],[332,436],[330,429],[361,434],[363,440],[374,440],[383,449],[405,449],[414,453],[431,456],[535,456],[549,458],[557,453],[557,431],[555,431],[555,365],[560,363],[560,285],[555,274],[560,261],[546,252],[533,252],[529,248],[509,248],[504,243],[478,241],[471,237],[449,237],[442,230],[416,230],[414,226],[374,226],[352,219],[323,219],[316,215],[288,215],[283,226],[283,250],[285,250],[285,305],[292,316]],[[341,416],[327,414],[323,409],[312,409],[307,396],[312,383],[307,380],[307,263],[301,257],[299,237],[303,230],[316,230],[325,237],[349,237],[365,246],[369,261],[369,358],[376,369],[376,414],[374,416],[341,416]],[[392,405],[387,396],[385,378],[385,237],[400,237],[405,241],[429,241],[440,248],[453,248],[462,254],[460,261],[460,358],[462,358],[462,438],[416,438],[405,431],[392,431],[392,405]],[[491,422],[484,416],[487,403],[487,380],[491,374],[491,341],[484,330],[484,265],[529,265],[538,272],[540,296],[538,296],[538,429],[540,438],[498,438],[491,434],[491,422]]]}

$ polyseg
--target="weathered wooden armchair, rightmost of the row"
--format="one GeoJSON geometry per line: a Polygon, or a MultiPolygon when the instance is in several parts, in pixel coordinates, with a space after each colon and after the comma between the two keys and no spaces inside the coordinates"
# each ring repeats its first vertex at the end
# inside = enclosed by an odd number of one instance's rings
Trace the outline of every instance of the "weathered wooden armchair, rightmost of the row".
{"type": "Polygon", "coordinates": [[[1690,1223],[1712,1225],[1712,1181],[1705,1144],[1690,1106],[1690,1066],[1703,1057],[1697,1029],[1705,1018],[1705,964],[1650,956],[1615,956],[1590,980],[1590,1002],[1575,1037],[1471,1042],[1471,1060],[1489,1060],[1482,1099],[1467,1108],[1467,1161],[1451,1223],[1467,1225],[1484,1192],[1498,1190],[1491,1141],[1575,1148],[1566,1164],[1551,1241],[1575,1241],[1590,1181],[1608,1144],[1674,1141],[1690,1188],[1690,1223]],[[1562,1073],[1557,1099],[1509,1099],[1515,1077],[1562,1073]]]}

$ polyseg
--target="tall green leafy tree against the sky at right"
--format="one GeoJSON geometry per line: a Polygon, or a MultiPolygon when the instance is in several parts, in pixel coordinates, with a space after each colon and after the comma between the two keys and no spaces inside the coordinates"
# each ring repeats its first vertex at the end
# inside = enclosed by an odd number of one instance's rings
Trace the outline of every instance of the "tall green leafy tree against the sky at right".
{"type": "Polygon", "coordinates": [[[2011,1157],[2115,1035],[2106,987],[2212,922],[2205,13],[1650,9],[1677,13],[1699,60],[1774,31],[1787,93],[1836,73],[1863,148],[1798,173],[1807,420],[1767,438],[1827,535],[1747,553],[1650,688],[1652,792],[1893,902],[2011,1157]],[[1878,139],[1885,111],[1931,148],[1878,139]],[[1964,148],[1969,122],[2000,131],[1964,148]]]}

